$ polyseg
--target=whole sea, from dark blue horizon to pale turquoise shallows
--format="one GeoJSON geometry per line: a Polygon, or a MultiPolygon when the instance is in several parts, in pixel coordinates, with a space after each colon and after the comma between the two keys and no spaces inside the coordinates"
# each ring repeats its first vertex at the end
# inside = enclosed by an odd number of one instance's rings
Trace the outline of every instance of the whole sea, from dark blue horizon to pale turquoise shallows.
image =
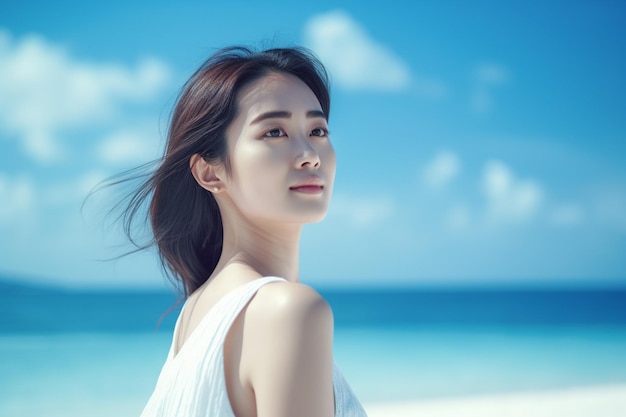
{"type": "MultiPolygon", "coordinates": [[[[625,289],[321,292],[365,404],[626,383],[625,289]]],[[[0,416],[138,415],[175,302],[0,282],[0,416]]]]}

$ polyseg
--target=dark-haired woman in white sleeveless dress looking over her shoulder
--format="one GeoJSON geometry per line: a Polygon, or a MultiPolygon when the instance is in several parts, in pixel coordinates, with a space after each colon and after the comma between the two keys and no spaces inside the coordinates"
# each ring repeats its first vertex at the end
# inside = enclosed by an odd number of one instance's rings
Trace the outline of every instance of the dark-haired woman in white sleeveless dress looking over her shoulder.
{"type": "Polygon", "coordinates": [[[127,211],[150,198],[188,296],[143,417],[365,416],[333,363],[331,309],[298,282],[302,225],[325,216],[335,176],[329,110],[302,49],[228,48],[185,85],[127,211]]]}

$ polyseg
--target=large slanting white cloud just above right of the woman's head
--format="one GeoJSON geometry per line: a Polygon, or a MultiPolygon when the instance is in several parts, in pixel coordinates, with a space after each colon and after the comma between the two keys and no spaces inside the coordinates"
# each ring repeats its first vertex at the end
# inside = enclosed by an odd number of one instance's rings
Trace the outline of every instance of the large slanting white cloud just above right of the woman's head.
{"type": "Polygon", "coordinates": [[[386,46],[370,38],[344,12],[312,17],[306,24],[305,37],[306,43],[328,68],[333,81],[344,88],[402,90],[411,82],[406,64],[386,46]]]}

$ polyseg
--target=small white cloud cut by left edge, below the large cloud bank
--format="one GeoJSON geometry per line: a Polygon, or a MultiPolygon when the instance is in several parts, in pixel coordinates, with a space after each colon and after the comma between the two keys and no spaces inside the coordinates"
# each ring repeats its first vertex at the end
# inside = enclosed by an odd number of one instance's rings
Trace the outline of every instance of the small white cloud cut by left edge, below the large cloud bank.
{"type": "Polygon", "coordinates": [[[30,179],[0,174],[0,225],[22,217],[33,208],[34,201],[35,187],[30,179]]]}

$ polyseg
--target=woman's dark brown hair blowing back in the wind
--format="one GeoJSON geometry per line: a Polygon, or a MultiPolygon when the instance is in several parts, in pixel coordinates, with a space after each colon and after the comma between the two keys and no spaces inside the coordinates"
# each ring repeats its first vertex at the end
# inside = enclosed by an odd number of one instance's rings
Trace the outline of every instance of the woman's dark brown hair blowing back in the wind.
{"type": "Polygon", "coordinates": [[[193,178],[190,158],[200,154],[209,162],[224,164],[229,171],[226,129],[237,114],[238,92],[271,72],[301,79],[328,118],[328,76],[319,60],[306,49],[219,50],[184,85],[172,113],[165,154],[125,206],[122,218],[128,238],[138,250],[156,245],[162,266],[182,283],[186,296],[215,269],[223,240],[217,203],[193,178]],[[146,203],[152,241],[141,246],[133,237],[133,225],[146,203]]]}

